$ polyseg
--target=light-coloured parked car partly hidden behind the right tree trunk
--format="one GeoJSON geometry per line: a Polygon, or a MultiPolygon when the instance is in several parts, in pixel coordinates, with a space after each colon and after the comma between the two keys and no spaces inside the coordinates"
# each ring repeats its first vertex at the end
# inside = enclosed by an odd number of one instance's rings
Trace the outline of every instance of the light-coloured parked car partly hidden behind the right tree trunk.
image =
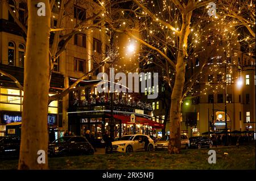
{"type": "MultiPolygon", "coordinates": [[[[181,149],[189,148],[189,140],[188,137],[184,134],[181,134],[181,149]]],[[[160,138],[160,140],[155,143],[155,150],[167,150],[169,145],[170,136],[166,135],[160,138]]]]}

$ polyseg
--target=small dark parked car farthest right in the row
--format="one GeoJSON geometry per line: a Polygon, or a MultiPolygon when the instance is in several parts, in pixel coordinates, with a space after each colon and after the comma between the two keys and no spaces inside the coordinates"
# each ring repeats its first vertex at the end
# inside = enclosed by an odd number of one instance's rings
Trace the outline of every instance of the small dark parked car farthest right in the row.
{"type": "Polygon", "coordinates": [[[190,148],[212,148],[212,140],[204,136],[194,136],[189,138],[190,148]]]}

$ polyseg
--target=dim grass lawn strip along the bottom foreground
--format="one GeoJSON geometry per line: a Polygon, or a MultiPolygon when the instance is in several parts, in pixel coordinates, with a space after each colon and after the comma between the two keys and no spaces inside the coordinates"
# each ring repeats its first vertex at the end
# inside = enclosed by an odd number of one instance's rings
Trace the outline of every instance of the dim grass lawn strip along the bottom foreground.
{"type": "MultiPolygon", "coordinates": [[[[255,169],[255,146],[212,148],[216,164],[208,163],[209,149],[102,154],[79,157],[49,158],[50,169],[255,169]],[[228,154],[224,154],[228,153],[228,154]]],[[[17,160],[0,161],[0,169],[16,169],[17,160]]]]}

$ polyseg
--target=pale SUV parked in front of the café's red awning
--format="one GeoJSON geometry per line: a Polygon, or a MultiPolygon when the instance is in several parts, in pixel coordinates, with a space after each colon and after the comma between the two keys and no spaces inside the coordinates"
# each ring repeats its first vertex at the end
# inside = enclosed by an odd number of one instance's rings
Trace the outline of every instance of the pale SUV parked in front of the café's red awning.
{"type": "Polygon", "coordinates": [[[113,151],[121,153],[130,153],[133,151],[154,151],[154,141],[144,134],[133,134],[122,136],[119,141],[112,142],[113,151]],[[148,140],[147,148],[145,149],[144,140],[148,140]]]}

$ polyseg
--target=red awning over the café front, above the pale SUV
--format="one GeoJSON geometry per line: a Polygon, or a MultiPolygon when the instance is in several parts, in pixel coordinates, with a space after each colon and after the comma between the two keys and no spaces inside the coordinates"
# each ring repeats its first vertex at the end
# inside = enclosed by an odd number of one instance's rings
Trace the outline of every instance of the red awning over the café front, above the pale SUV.
{"type": "MultiPolygon", "coordinates": [[[[106,114],[107,116],[111,116],[110,114],[106,114]]],[[[130,122],[130,116],[126,115],[113,115],[114,119],[121,120],[123,124],[133,124],[130,122]]],[[[152,121],[150,119],[147,119],[146,117],[135,117],[135,123],[136,124],[142,124],[142,125],[148,125],[150,127],[154,128],[164,128],[164,125],[161,123],[156,123],[155,121],[152,121]]]]}

